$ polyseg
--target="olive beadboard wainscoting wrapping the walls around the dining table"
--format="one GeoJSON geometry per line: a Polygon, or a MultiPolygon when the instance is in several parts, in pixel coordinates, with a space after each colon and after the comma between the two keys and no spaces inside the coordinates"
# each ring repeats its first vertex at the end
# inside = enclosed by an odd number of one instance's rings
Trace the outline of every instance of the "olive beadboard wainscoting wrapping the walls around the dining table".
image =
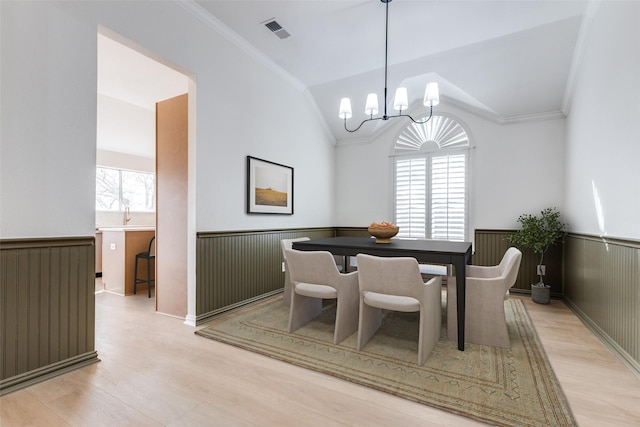
{"type": "MultiPolygon", "coordinates": [[[[476,230],[473,263],[497,265],[510,230],[476,230]]],[[[310,228],[198,233],[196,323],[281,292],[280,240],[307,236],[367,237],[366,228],[310,228]]],[[[515,292],[530,293],[537,255],[523,251],[515,292]]],[[[640,373],[640,243],[570,235],[545,254],[545,282],[640,373]]]]}

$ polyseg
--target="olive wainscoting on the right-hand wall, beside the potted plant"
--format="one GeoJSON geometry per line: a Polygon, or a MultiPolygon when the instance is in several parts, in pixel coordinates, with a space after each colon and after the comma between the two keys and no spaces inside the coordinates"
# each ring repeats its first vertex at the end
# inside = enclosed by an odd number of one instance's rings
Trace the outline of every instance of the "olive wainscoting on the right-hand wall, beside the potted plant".
{"type": "Polygon", "coordinates": [[[640,376],[640,242],[569,235],[565,301],[640,376]]]}

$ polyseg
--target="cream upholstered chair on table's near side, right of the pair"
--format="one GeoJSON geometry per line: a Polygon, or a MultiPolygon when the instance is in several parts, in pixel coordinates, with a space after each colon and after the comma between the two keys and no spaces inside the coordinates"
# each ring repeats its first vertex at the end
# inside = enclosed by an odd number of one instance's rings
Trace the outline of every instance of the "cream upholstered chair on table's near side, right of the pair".
{"type": "Polygon", "coordinates": [[[360,317],[358,350],[382,326],[382,310],[420,312],[418,366],[422,366],[440,338],[442,278],[423,282],[418,261],[405,257],[358,254],[360,317]]]}

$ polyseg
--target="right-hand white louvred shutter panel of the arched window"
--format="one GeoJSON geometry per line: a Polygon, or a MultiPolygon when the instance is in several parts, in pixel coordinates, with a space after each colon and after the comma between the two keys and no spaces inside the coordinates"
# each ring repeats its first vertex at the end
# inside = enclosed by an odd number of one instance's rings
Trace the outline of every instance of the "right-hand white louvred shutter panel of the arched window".
{"type": "Polygon", "coordinates": [[[431,158],[432,239],[465,240],[466,164],[465,153],[431,158]]]}

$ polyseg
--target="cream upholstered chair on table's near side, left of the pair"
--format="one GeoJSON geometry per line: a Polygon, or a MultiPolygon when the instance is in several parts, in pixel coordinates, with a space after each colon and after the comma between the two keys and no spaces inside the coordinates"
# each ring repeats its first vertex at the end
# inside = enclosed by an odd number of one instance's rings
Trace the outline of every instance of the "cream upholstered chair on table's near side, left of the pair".
{"type": "Polygon", "coordinates": [[[323,299],[336,299],[333,343],[358,329],[358,272],[340,273],[330,252],[286,250],[291,274],[289,333],[322,312],[323,299]]]}

